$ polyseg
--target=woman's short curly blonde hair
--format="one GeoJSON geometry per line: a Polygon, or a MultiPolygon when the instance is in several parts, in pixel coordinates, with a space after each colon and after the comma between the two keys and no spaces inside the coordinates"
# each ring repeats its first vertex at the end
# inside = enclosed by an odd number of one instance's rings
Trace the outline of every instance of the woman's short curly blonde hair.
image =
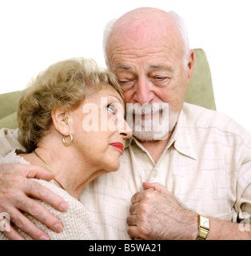
{"type": "Polygon", "coordinates": [[[20,99],[18,141],[28,152],[34,150],[50,129],[54,108],[74,110],[87,94],[102,89],[102,84],[113,86],[124,98],[116,76],[92,59],[70,58],[42,71],[20,99]]]}

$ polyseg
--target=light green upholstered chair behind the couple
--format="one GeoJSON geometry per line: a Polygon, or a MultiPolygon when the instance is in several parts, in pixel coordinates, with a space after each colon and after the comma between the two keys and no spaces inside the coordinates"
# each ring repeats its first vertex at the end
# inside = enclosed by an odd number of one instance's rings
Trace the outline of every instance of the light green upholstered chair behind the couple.
{"type": "MultiPolygon", "coordinates": [[[[0,94],[0,128],[18,127],[18,99],[22,91],[0,94]]],[[[187,87],[185,102],[216,110],[209,62],[202,49],[194,49],[194,70],[187,87]]]]}

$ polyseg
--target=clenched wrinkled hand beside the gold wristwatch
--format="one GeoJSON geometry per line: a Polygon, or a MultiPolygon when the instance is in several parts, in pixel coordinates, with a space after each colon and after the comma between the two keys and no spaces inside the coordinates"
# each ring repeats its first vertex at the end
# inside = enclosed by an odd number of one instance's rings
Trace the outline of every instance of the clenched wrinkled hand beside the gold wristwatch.
{"type": "Polygon", "coordinates": [[[165,186],[143,183],[145,191],[133,195],[127,218],[128,234],[135,239],[197,238],[197,214],[186,210],[165,186]]]}

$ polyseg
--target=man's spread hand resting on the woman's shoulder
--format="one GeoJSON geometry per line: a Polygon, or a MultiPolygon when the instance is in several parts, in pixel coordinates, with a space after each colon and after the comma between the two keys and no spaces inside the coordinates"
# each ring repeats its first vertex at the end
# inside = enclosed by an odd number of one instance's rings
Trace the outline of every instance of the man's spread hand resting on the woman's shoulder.
{"type": "MultiPolygon", "coordinates": [[[[48,234],[38,229],[22,211],[37,218],[51,230],[60,232],[62,222],[32,198],[40,199],[61,211],[67,209],[66,202],[51,190],[29,178],[50,181],[54,178],[54,174],[50,174],[39,166],[0,165],[0,213],[10,214],[10,222],[30,235],[31,238],[50,239],[48,234]]],[[[10,231],[5,231],[4,234],[10,239],[23,239],[13,226],[10,226],[10,231]]]]}

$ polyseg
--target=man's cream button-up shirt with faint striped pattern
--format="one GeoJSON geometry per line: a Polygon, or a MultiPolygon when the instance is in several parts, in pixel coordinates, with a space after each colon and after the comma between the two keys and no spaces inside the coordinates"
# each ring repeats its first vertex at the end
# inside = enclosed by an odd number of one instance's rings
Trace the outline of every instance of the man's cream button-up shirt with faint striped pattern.
{"type": "MultiPolygon", "coordinates": [[[[1,154],[12,150],[11,144],[13,134],[9,131],[6,136],[1,130],[1,154]]],[[[99,239],[129,239],[130,198],[142,190],[142,182],[160,182],[198,214],[249,222],[251,134],[223,114],[184,103],[173,136],[156,163],[137,139],[130,138],[120,169],[102,174],[82,191],[80,200],[99,239]]]]}

